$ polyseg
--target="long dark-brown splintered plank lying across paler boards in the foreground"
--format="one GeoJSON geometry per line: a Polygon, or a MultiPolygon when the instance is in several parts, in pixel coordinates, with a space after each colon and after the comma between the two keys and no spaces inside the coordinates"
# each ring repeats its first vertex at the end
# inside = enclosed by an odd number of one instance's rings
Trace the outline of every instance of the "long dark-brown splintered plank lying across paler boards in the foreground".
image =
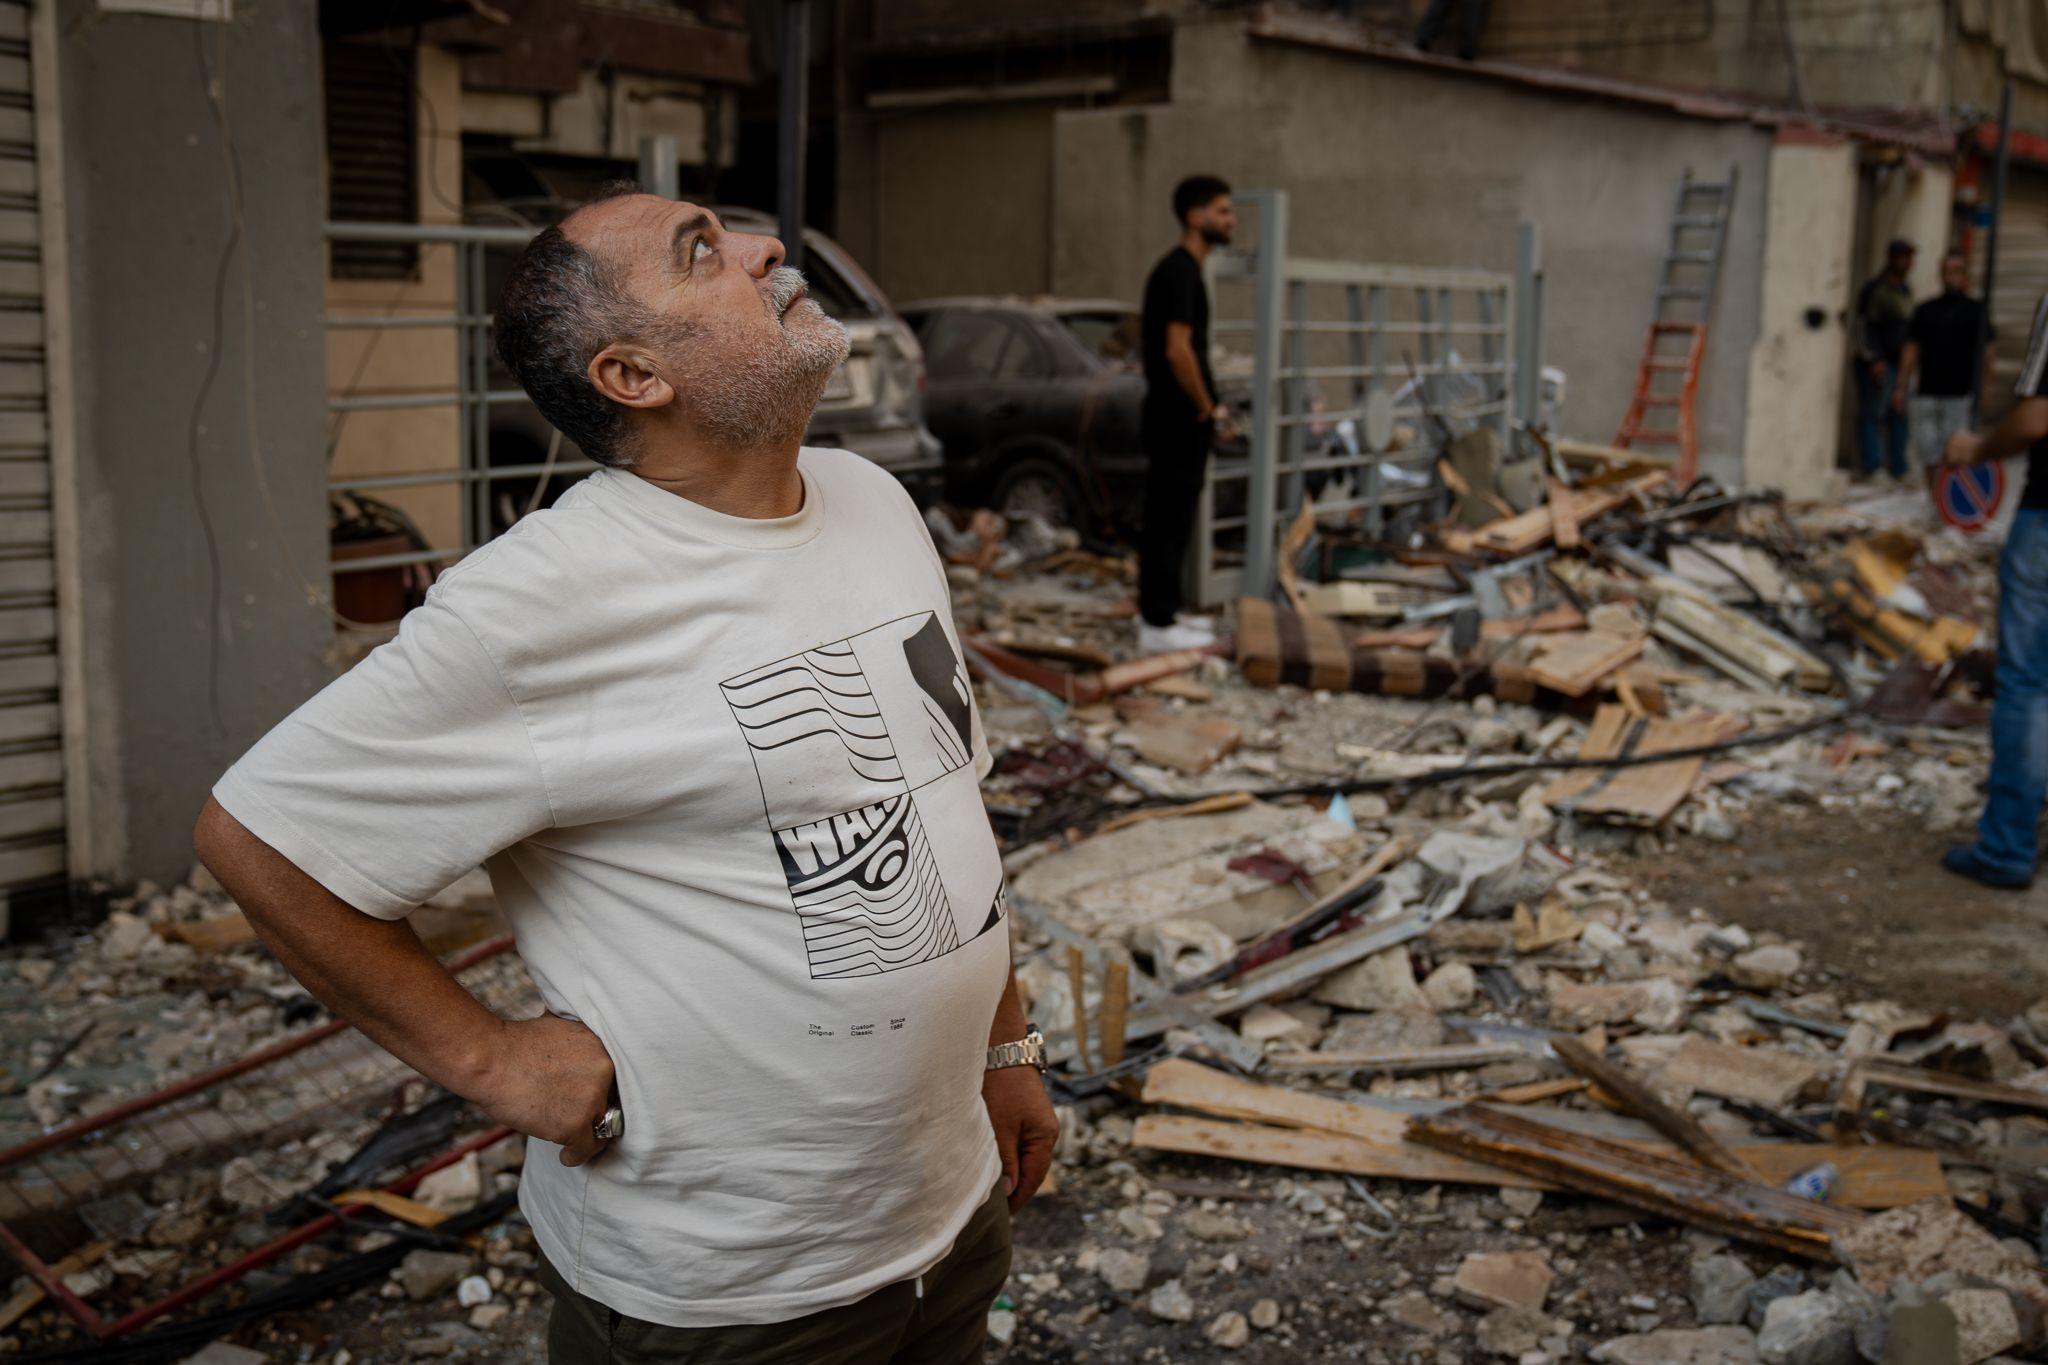
{"type": "Polygon", "coordinates": [[[1858,1212],[1800,1199],[1761,1181],[1565,1134],[1487,1105],[1417,1117],[1409,1138],[1817,1261],[1829,1259],[1829,1238],[1864,1222],[1858,1212]]]}

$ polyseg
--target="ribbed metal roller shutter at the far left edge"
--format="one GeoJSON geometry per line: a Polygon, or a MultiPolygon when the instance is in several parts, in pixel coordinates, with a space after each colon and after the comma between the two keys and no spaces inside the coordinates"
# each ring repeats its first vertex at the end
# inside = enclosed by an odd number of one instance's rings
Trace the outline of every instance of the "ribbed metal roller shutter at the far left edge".
{"type": "Polygon", "coordinates": [[[31,8],[0,0],[0,905],[66,878],[31,8]]]}

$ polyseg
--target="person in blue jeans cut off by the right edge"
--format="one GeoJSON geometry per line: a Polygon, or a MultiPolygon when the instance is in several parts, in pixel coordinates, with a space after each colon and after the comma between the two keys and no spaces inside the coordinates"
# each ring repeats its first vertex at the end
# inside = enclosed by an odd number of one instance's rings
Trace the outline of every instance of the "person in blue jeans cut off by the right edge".
{"type": "Polygon", "coordinates": [[[2019,405],[1989,436],[1956,432],[1948,465],[2028,452],[2028,483],[1999,557],[1999,675],[1991,704],[1991,782],[1976,843],[1942,857],[1985,886],[2034,884],[2042,798],[2048,796],[2048,297],[2019,366],[2019,405]]]}

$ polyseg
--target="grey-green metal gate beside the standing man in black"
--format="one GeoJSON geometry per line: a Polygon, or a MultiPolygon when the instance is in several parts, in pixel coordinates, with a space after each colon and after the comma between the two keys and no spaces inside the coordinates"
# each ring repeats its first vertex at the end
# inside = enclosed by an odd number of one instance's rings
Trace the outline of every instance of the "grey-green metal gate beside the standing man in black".
{"type": "Polygon", "coordinates": [[[1247,442],[1210,460],[1202,489],[1190,553],[1202,606],[1272,591],[1307,493],[1319,516],[1378,536],[1401,508],[1442,501],[1438,422],[1493,428],[1505,458],[1536,401],[1532,229],[1516,274],[1305,260],[1288,254],[1284,190],[1235,203],[1257,231],[1249,252],[1208,258],[1210,338],[1225,399],[1249,383],[1247,442]],[[1249,358],[1229,338],[1249,338],[1249,358]]]}

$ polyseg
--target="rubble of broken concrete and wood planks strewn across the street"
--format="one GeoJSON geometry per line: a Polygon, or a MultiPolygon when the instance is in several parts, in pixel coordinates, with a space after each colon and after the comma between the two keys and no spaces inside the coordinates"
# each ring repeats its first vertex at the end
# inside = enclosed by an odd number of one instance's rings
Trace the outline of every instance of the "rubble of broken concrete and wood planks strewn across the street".
{"type": "MultiPolygon", "coordinates": [[[[1868,999],[1628,874],[1792,804],[1966,825],[1993,546],[1575,458],[1405,544],[1309,508],[1286,602],[1163,659],[1126,561],[934,518],[1063,1109],[1010,1359],[2048,1351],[2048,1007],[1868,999]]],[[[479,878],[414,925],[532,1009],[479,878]]],[[[0,1220],[102,1320],[334,1218],[166,1320],[221,1365],[541,1359],[522,1144],[324,1023],[203,872],[0,986],[0,1220]],[[358,1285],[381,1345],[287,1345],[358,1285]]],[[[82,1340],[10,1293],[0,1351],[82,1340]]]]}

